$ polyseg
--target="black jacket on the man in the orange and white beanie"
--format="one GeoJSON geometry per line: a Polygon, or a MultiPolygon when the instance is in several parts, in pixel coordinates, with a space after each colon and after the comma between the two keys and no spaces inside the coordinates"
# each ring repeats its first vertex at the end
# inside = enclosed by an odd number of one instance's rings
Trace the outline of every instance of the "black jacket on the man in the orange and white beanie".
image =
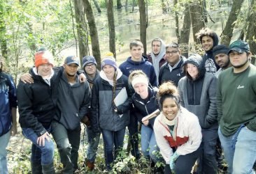
{"type": "Polygon", "coordinates": [[[55,116],[57,106],[57,84],[62,75],[62,70],[55,70],[50,79],[50,86],[41,76],[30,72],[34,84],[24,84],[22,81],[17,86],[17,104],[20,113],[20,126],[34,129],[38,136],[46,132],[55,116]]]}

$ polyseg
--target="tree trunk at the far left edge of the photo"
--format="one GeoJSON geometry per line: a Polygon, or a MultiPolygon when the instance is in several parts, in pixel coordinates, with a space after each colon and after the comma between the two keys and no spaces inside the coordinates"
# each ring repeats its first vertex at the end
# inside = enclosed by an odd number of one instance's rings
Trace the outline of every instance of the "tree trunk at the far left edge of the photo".
{"type": "Polygon", "coordinates": [[[1,54],[4,58],[8,56],[8,48],[6,41],[6,24],[4,22],[3,17],[3,1],[0,2],[0,47],[1,54]]]}

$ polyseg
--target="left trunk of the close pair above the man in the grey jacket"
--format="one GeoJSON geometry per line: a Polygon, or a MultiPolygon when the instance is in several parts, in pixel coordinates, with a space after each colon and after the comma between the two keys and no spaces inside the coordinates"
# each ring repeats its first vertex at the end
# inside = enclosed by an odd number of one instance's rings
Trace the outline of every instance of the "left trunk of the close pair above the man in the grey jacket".
{"type": "Polygon", "coordinates": [[[78,47],[80,62],[84,56],[88,55],[88,38],[87,38],[87,27],[85,23],[85,11],[83,3],[80,0],[74,0],[75,17],[76,17],[76,31],[78,33],[78,47]]]}

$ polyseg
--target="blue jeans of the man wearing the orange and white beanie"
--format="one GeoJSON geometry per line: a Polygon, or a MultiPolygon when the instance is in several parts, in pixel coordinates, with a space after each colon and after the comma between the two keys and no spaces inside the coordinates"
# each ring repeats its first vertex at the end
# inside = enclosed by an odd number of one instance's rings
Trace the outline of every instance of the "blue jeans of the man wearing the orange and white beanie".
{"type": "Polygon", "coordinates": [[[45,145],[39,146],[36,143],[38,136],[31,128],[22,128],[22,134],[26,139],[32,141],[31,161],[40,161],[42,165],[52,164],[55,145],[52,140],[48,141],[45,139],[45,145]]]}

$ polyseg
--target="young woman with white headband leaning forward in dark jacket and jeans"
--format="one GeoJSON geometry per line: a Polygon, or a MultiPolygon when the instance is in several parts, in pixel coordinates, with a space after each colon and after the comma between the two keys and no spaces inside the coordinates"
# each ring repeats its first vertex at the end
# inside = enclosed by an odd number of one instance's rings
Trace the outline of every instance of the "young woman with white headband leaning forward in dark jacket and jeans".
{"type": "Polygon", "coordinates": [[[142,121],[142,118],[158,109],[157,104],[157,88],[149,86],[148,77],[142,70],[134,70],[129,75],[129,82],[135,92],[131,100],[138,121],[141,122],[141,151],[146,159],[151,158],[153,162],[159,161],[157,151],[157,142],[155,141],[155,133],[153,125],[155,118],[142,121]]]}

